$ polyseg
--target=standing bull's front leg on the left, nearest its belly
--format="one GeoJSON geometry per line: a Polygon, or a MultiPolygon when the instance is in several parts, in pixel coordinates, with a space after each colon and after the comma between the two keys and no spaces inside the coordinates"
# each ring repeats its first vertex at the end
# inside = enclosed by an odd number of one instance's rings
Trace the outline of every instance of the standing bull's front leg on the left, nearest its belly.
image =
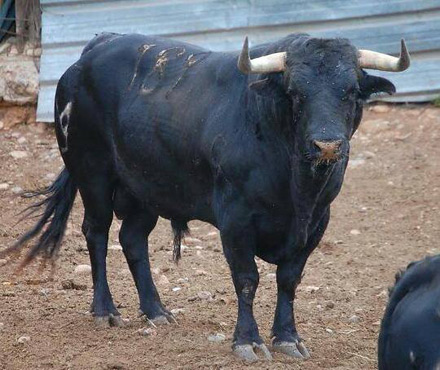
{"type": "Polygon", "coordinates": [[[272,356],[260,337],[253,314],[253,302],[259,282],[253,233],[241,228],[234,229],[236,232],[227,230],[221,233],[238,298],[238,318],[232,349],[238,357],[246,361],[258,360],[258,352],[271,360],[272,356]]]}

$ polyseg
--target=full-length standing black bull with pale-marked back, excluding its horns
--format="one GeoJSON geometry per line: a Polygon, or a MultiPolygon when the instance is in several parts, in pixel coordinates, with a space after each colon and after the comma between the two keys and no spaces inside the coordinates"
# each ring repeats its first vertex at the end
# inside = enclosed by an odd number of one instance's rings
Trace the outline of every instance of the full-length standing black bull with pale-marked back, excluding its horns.
{"type": "MultiPolygon", "coordinates": [[[[234,351],[270,358],[252,306],[255,256],[277,265],[273,348],[307,358],[293,314],[295,289],[341,188],[349,139],[372,93],[393,93],[360,67],[345,39],[289,35],[251,50],[286,52],[281,73],[247,75],[237,53],[158,37],[102,34],[58,83],[55,128],[66,168],[44,191],[45,211],[13,247],[41,233],[24,263],[57,255],[77,190],[85,207],[100,323],[122,323],[106,278],[113,212],[120,242],[151,321],[172,321],[151,277],[147,238],[171,220],[175,257],[189,220],[220,230],[238,297],[234,351]]],[[[31,209],[32,211],[32,209],[31,209]]]]}

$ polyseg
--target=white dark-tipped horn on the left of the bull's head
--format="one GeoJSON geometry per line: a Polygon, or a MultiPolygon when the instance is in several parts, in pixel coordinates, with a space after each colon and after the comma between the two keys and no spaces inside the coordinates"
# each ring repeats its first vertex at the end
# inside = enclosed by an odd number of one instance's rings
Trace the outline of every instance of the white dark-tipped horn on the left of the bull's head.
{"type": "Polygon", "coordinates": [[[283,72],[286,69],[286,52],[251,59],[249,56],[249,40],[246,36],[237,66],[244,74],[283,72]]]}

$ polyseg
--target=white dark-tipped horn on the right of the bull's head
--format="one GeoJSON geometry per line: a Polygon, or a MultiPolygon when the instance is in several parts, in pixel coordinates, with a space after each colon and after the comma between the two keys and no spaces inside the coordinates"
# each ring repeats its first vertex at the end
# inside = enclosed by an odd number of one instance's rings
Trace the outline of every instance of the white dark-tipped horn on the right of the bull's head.
{"type": "Polygon", "coordinates": [[[411,58],[406,48],[405,40],[401,40],[400,57],[392,57],[371,50],[359,50],[359,65],[361,68],[378,69],[379,71],[401,72],[409,67],[411,58]]]}

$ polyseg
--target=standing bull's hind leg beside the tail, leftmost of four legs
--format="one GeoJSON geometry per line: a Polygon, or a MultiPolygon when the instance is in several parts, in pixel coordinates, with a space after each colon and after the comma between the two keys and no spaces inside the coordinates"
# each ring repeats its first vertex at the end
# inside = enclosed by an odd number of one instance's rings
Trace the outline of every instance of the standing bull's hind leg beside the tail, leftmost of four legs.
{"type": "Polygon", "coordinates": [[[82,231],[87,240],[93,278],[91,312],[100,326],[122,326],[107,282],[106,257],[110,225],[113,219],[112,189],[107,178],[93,176],[93,181],[80,184],[84,203],[82,231]]]}

